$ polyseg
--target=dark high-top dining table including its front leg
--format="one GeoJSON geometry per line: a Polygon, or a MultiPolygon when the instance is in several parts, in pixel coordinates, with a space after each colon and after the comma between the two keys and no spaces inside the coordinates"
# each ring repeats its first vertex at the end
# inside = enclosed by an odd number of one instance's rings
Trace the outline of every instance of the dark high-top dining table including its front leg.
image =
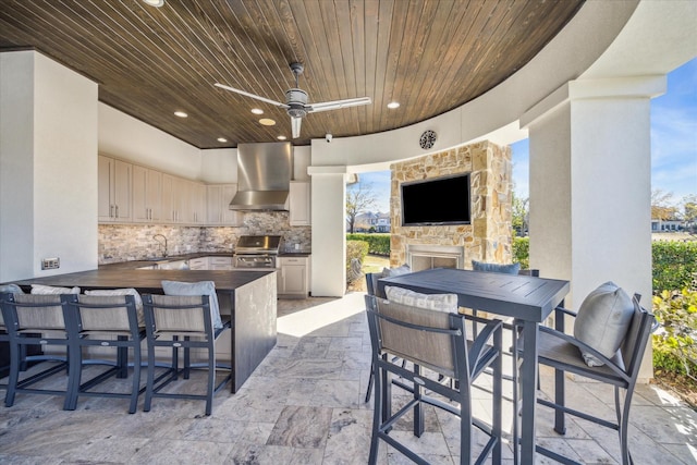
{"type": "MultiPolygon", "coordinates": [[[[484,271],[435,268],[378,280],[386,285],[424,294],[457,294],[461,307],[516,318],[523,325],[521,463],[535,463],[535,406],[537,403],[537,336],[539,323],[568,293],[568,281],[484,271]]],[[[384,295],[384,294],[382,294],[384,295]]]]}

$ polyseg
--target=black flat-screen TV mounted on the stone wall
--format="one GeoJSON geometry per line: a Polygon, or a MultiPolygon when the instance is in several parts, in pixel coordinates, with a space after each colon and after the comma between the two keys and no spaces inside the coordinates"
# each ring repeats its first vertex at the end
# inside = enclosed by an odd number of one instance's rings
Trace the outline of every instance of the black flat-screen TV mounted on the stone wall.
{"type": "Polygon", "coordinates": [[[402,183],[402,225],[469,224],[469,173],[402,183]]]}

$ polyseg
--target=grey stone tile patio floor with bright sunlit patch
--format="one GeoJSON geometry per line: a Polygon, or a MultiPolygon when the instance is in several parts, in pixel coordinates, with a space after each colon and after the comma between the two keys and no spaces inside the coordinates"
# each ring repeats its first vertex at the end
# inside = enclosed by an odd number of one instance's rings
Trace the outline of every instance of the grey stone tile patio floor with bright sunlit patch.
{"type": "MultiPolygon", "coordinates": [[[[271,354],[236,394],[217,394],[210,417],[200,401],[155,399],[151,412],[129,415],[123,400],[81,397],[75,412],[64,412],[60,397],[17,394],[14,406],[0,406],[0,463],[367,463],[372,411],[364,403],[370,341],[363,294],[279,301],[278,329],[271,354]]],[[[175,389],[200,388],[197,380],[175,389]]],[[[550,372],[541,381],[546,395],[550,372]]],[[[570,404],[612,417],[611,390],[592,381],[567,386],[570,404]]],[[[482,392],[482,415],[485,400],[482,392]]],[[[539,412],[540,443],[586,464],[617,463],[614,432],[570,419],[561,437],[551,429],[551,415],[539,412]]],[[[510,419],[509,414],[504,425],[510,419]]],[[[429,411],[420,439],[407,423],[398,424],[394,435],[432,464],[454,464],[456,431],[451,416],[429,411]]],[[[697,413],[653,386],[637,389],[629,436],[637,464],[697,464],[697,413]]],[[[513,463],[508,444],[504,458],[513,463]]],[[[409,462],[381,443],[379,463],[409,462]]],[[[550,462],[540,456],[537,463],[550,462]]]]}

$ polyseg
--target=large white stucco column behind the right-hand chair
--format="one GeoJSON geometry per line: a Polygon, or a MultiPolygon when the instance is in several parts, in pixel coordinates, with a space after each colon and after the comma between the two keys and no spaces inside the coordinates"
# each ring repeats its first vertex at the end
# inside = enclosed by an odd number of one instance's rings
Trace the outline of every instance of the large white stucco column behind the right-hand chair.
{"type": "Polygon", "coordinates": [[[607,281],[651,306],[650,98],[664,91],[665,76],[574,81],[521,119],[530,267],[571,281],[570,308],[607,281]]]}

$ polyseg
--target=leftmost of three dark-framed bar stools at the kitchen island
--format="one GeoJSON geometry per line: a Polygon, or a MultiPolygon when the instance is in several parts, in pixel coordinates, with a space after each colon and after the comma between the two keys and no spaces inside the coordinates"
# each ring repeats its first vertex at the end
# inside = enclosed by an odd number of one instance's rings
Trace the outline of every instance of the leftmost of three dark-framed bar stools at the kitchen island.
{"type": "Polygon", "coordinates": [[[2,316],[10,342],[10,375],[5,392],[7,407],[14,405],[17,392],[29,394],[63,395],[63,408],[70,406],[74,377],[68,376],[65,389],[33,387],[68,367],[68,353],[72,343],[68,333],[69,319],[61,295],[12,294],[0,295],[2,316]],[[44,351],[53,347],[54,353],[26,356],[27,346],[44,351]],[[20,379],[23,365],[28,362],[51,362],[51,366],[20,379]]]}

